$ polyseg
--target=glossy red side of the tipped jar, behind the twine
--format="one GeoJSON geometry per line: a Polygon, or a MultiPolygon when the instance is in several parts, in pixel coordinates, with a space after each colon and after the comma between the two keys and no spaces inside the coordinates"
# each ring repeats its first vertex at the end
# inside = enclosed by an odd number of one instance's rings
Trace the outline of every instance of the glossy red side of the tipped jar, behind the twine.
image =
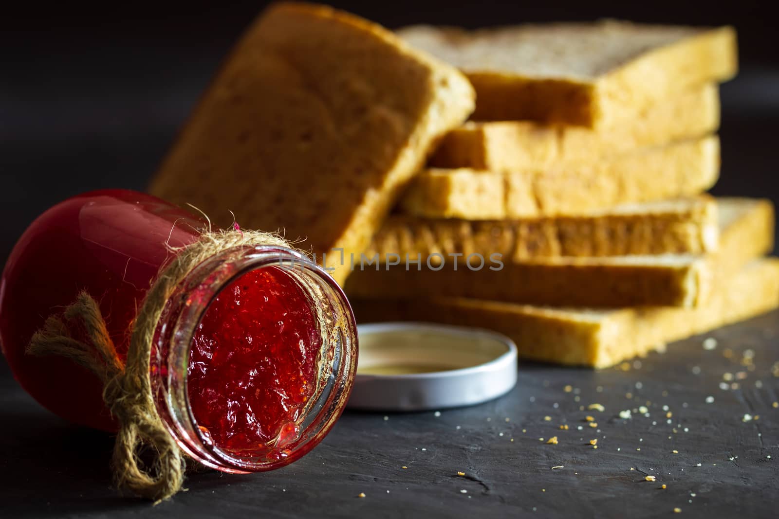
{"type": "Polygon", "coordinates": [[[37,218],[14,247],[0,282],[0,342],[19,384],[65,419],[115,430],[92,373],[24,349],[48,315],[86,290],[100,303],[116,349],[125,356],[136,308],[171,257],[166,244],[192,243],[202,226],[183,209],[124,190],[69,198],[37,218]]]}

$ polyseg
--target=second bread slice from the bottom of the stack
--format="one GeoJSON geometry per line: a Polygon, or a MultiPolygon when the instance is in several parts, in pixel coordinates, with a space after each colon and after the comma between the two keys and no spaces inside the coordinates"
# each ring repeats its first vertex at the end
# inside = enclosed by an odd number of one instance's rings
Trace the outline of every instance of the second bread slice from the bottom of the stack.
{"type": "Polygon", "coordinates": [[[717,272],[729,272],[770,251],[770,202],[737,199],[720,217],[720,247],[711,254],[509,261],[474,253],[360,261],[346,290],[358,298],[467,297],[576,307],[675,306],[704,303],[717,272]]]}

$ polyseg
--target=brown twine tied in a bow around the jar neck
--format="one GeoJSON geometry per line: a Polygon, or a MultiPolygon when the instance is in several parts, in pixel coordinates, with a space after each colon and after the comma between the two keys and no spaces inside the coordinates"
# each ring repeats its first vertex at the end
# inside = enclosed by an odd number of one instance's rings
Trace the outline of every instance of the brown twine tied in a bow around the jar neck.
{"type": "Polygon", "coordinates": [[[103,382],[104,402],[119,424],[113,465],[120,488],[155,502],[182,489],[185,454],[162,423],[152,395],[149,369],[154,331],[171,293],[193,268],[221,251],[244,246],[290,248],[276,234],[236,226],[235,230],[203,233],[196,242],[174,249],[176,256],[162,269],[136,316],[125,363],[108,335],[97,301],[86,292],[79,293],[62,314],[48,317],[44,328],[30,339],[26,351],[31,355],[72,359],[103,382]],[[84,332],[89,344],[74,338],[84,332]],[[139,459],[144,445],[153,447],[149,467],[139,459]]]}

